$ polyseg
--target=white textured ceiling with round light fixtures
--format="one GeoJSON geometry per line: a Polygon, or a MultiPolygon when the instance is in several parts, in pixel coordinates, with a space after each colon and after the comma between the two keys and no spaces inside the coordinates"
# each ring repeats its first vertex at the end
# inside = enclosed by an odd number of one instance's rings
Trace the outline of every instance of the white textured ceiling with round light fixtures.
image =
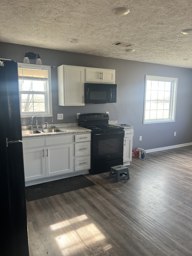
{"type": "Polygon", "coordinates": [[[192,35],[181,33],[192,28],[191,0],[0,0],[0,6],[1,42],[192,68],[192,35]],[[118,7],[130,13],[116,16],[118,7]]]}

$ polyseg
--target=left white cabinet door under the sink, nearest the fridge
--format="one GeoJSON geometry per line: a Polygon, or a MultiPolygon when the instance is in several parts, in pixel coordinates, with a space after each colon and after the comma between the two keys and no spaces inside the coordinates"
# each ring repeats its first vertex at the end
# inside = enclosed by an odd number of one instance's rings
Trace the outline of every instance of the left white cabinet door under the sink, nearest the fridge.
{"type": "Polygon", "coordinates": [[[45,148],[23,149],[25,181],[46,177],[45,148]]]}

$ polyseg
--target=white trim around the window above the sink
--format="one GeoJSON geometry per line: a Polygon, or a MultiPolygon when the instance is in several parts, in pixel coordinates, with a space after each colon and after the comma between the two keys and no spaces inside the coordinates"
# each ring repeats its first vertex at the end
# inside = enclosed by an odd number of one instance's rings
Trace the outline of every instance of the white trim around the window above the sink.
{"type": "MultiPolygon", "coordinates": [[[[35,65],[35,64],[25,64],[25,63],[17,63],[18,68],[32,68],[32,69],[39,69],[39,68],[45,68],[47,69],[48,73],[48,88],[47,88],[47,102],[45,102],[45,106],[47,107],[47,112],[48,113],[39,113],[39,112],[30,112],[29,114],[22,114],[20,111],[21,118],[26,118],[26,117],[52,117],[52,94],[51,94],[51,66],[46,66],[46,65],[35,65]]],[[[21,106],[20,102],[20,92],[19,91],[19,105],[21,106]]],[[[25,91],[23,91],[25,92],[25,91]]],[[[41,92],[40,92],[41,94],[41,92]]]]}

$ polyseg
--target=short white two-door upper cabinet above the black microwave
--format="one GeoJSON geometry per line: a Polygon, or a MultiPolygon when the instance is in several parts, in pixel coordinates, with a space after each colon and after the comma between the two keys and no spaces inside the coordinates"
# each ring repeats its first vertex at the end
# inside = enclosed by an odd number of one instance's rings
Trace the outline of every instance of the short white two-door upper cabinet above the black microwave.
{"type": "Polygon", "coordinates": [[[94,83],[115,83],[115,70],[85,68],[85,81],[94,83]]]}

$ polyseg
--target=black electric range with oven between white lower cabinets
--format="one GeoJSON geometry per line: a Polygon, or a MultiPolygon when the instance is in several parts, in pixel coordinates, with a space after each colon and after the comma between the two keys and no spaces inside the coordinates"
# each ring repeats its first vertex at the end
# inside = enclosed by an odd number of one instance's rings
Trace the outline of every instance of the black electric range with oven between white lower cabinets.
{"type": "Polygon", "coordinates": [[[109,124],[106,113],[79,115],[79,126],[91,130],[92,174],[110,171],[110,167],[123,164],[123,127],[109,124]]]}

